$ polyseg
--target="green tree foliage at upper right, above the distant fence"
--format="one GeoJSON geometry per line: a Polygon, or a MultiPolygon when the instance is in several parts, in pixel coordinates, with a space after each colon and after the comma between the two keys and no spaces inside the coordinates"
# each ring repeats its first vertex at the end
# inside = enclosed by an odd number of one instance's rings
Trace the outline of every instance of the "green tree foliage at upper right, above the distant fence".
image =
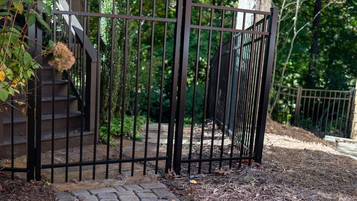
{"type": "MultiPolygon", "coordinates": [[[[281,7],[283,0],[273,0],[281,7]]],[[[286,1],[289,3],[292,1],[286,1]]],[[[330,1],[322,1],[322,8],[330,1]]],[[[313,19],[315,1],[303,1],[298,13],[297,27],[313,19]]],[[[349,90],[356,84],[357,68],[357,1],[337,1],[321,12],[315,88],[349,90]],[[342,3],[341,3],[342,2],[342,3]]],[[[293,15],[296,4],[285,9],[280,25],[275,83],[280,83],[281,72],[291,46],[293,15]],[[289,11],[293,11],[288,14],[289,11]]],[[[312,23],[301,30],[294,42],[292,54],[285,70],[283,85],[307,88],[310,51],[313,42],[312,23]]]]}

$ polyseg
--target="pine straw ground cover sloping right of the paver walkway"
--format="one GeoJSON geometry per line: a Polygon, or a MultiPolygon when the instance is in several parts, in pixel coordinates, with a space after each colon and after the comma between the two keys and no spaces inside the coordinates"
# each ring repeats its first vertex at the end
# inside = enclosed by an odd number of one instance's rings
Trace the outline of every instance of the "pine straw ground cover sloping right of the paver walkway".
{"type": "MultiPolygon", "coordinates": [[[[204,157],[209,157],[208,137],[205,133],[204,157]]],[[[215,153],[220,142],[215,138],[215,153]]],[[[357,160],[312,133],[269,120],[264,145],[262,165],[243,162],[240,168],[234,163],[228,169],[223,163],[224,168],[218,170],[218,163],[213,163],[212,173],[207,174],[208,163],[202,163],[205,177],[195,178],[198,183],[192,184],[187,164],[182,164],[181,177],[161,178],[160,182],[182,201],[357,201],[357,160]]],[[[199,156],[197,146],[193,146],[193,158],[199,156]]],[[[225,155],[230,152],[228,147],[225,145],[225,155]]],[[[191,175],[196,174],[197,165],[192,164],[191,175]]]]}

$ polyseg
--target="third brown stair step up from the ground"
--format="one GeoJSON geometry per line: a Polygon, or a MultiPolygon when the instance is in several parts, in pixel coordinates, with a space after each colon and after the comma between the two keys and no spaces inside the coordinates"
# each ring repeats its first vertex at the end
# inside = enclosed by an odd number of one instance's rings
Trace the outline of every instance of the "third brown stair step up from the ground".
{"type": "MultiPolygon", "coordinates": [[[[45,96],[42,97],[42,104],[41,104],[41,113],[42,114],[52,114],[52,96],[45,96]]],[[[70,95],[70,112],[75,112],[78,110],[78,101],[75,96],[70,95]]],[[[20,98],[19,101],[24,102],[24,98],[20,98]]],[[[6,106],[7,104],[4,104],[6,106]]],[[[18,105],[14,102],[14,117],[23,116],[22,115],[22,108],[26,107],[26,105],[18,105]]],[[[55,112],[67,112],[67,96],[55,96],[55,112]]],[[[10,118],[10,106],[7,107],[7,112],[4,113],[4,118],[10,118]]]]}

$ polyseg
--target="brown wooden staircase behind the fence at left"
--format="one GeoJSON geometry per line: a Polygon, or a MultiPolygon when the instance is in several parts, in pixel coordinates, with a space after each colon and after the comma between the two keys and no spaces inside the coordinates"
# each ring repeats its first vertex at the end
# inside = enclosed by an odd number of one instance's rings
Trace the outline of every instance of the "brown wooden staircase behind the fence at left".
{"type": "MultiPolygon", "coordinates": [[[[53,68],[48,65],[48,59],[43,60],[42,67],[42,102],[41,102],[41,133],[42,146],[41,151],[51,150],[52,139],[52,75],[53,68]]],[[[67,134],[67,80],[62,79],[62,73],[55,72],[55,149],[66,148],[67,134]]],[[[21,101],[21,99],[20,99],[21,101]]],[[[24,101],[22,99],[22,101],[24,101]]],[[[69,148],[80,146],[81,131],[81,111],[74,95],[69,97],[69,148]]],[[[5,103],[4,103],[5,106],[5,103]]],[[[14,109],[14,156],[26,155],[27,144],[27,118],[21,110],[25,107],[14,103],[18,109],[14,109]]],[[[86,114],[84,114],[85,116],[86,114]]],[[[1,117],[0,117],[1,120],[1,117]]],[[[0,125],[0,158],[11,157],[11,113],[7,106],[7,112],[2,112],[2,125],[0,125]],[[2,126],[2,128],[1,128],[2,126]],[[1,131],[2,130],[2,131],[1,131]]],[[[94,131],[83,132],[83,145],[92,145],[94,143],[94,131]]]]}

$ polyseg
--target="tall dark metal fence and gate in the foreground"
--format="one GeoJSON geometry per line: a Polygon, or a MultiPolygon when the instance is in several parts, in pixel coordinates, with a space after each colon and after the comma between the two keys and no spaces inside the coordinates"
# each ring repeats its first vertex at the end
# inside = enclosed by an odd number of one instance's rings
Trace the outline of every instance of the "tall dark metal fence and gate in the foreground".
{"type": "MultiPolygon", "coordinates": [[[[122,164],[131,164],[131,175],[134,175],[134,164],[136,162],[144,163],[144,175],[146,174],[148,161],[153,161],[156,163],[155,172],[158,171],[158,162],[165,161],[165,171],[167,172],[170,168],[179,174],[181,172],[181,163],[199,163],[201,167],[202,163],[209,163],[209,172],[212,170],[212,162],[220,162],[219,167],[222,166],[222,162],[229,162],[230,166],[233,161],[239,161],[240,165],[242,160],[249,160],[249,165],[251,165],[252,160],[256,162],[261,162],[262,149],[263,149],[263,139],[265,132],[265,122],[269,99],[269,85],[271,82],[271,71],[273,63],[273,47],[275,45],[276,36],[276,26],[277,26],[277,13],[278,8],[272,8],[270,12],[253,11],[253,10],[243,10],[237,8],[228,8],[222,6],[204,5],[192,3],[191,0],[177,0],[176,1],[176,16],[175,18],[169,18],[169,0],[166,1],[165,17],[157,17],[155,13],[155,3],[153,1],[153,10],[151,16],[144,16],[143,11],[143,0],[140,0],[139,15],[131,15],[129,0],[126,1],[126,14],[119,15],[115,13],[115,1],[113,1],[112,13],[104,14],[101,13],[101,1],[99,1],[99,12],[90,13],[87,11],[87,7],[84,6],[84,11],[71,11],[72,0],[58,0],[54,1],[54,9],[52,14],[54,14],[52,37],[53,40],[62,41],[68,44],[69,49],[72,50],[76,57],[76,64],[71,70],[65,71],[63,74],[59,74],[54,68],[44,67],[43,69],[37,69],[36,81],[29,82],[28,87],[30,89],[35,89],[35,95],[30,95],[27,102],[29,104],[27,112],[27,138],[26,144],[23,148],[27,151],[27,167],[26,168],[16,168],[14,166],[14,115],[11,115],[11,143],[9,157],[11,155],[11,167],[2,168],[1,171],[10,172],[26,172],[27,180],[36,179],[41,180],[41,171],[47,170],[51,175],[51,182],[54,181],[54,173],[56,169],[65,168],[65,181],[69,178],[69,168],[79,167],[79,180],[82,180],[82,173],[84,167],[91,167],[92,178],[95,179],[96,167],[100,165],[105,165],[105,175],[106,178],[109,176],[109,165],[119,164],[119,172],[122,171],[122,164]],[[198,8],[200,10],[199,22],[198,24],[191,23],[192,8],[198,8]],[[210,10],[210,25],[201,24],[201,14],[203,9],[210,10]],[[213,13],[214,11],[221,12],[221,25],[213,25],[213,13]],[[230,21],[229,28],[224,26],[223,23],[225,19],[225,13],[233,13],[232,19],[230,21]],[[243,21],[243,28],[236,29],[236,14],[243,13],[243,19],[238,19],[243,21]],[[253,25],[244,29],[244,23],[246,15],[253,15],[253,25]],[[262,20],[257,20],[258,16],[262,16],[262,20]],[[98,19],[97,26],[97,41],[96,49],[90,43],[88,36],[86,35],[87,23],[84,23],[83,27],[81,23],[78,22],[79,17],[84,21],[87,18],[95,17],[98,19]],[[126,77],[124,76],[120,83],[113,82],[113,62],[111,62],[110,68],[110,79],[101,80],[100,79],[100,48],[101,48],[101,18],[110,18],[112,24],[116,19],[125,20],[125,31],[126,36],[122,40],[125,40],[125,51],[124,56],[124,67],[123,74],[126,75],[128,68],[128,58],[132,55],[129,54],[128,50],[128,31],[129,20],[138,22],[137,32],[137,53],[136,53],[136,89],[135,89],[135,109],[138,111],[138,93],[139,93],[139,72],[140,72],[140,62],[141,62],[141,34],[142,34],[142,22],[151,21],[152,31],[151,31],[151,55],[150,55],[150,75],[147,82],[149,82],[149,89],[152,83],[152,51],[154,45],[154,34],[155,34],[155,22],[161,22],[165,24],[164,31],[164,43],[163,43],[163,55],[162,55],[162,75],[161,75],[161,99],[160,99],[160,119],[161,119],[161,109],[163,104],[162,93],[164,90],[164,76],[171,77],[170,83],[170,119],[169,127],[167,131],[167,146],[165,156],[159,155],[159,141],[157,144],[156,156],[148,157],[148,125],[149,125],[149,114],[150,114],[150,93],[148,90],[148,104],[147,104],[147,129],[145,136],[145,152],[143,157],[137,157],[135,155],[136,147],[136,137],[132,138],[132,152],[131,157],[123,157],[123,123],[124,123],[124,104],[122,101],[122,111],[121,111],[121,135],[120,135],[120,147],[119,147],[119,157],[110,157],[110,141],[107,140],[106,144],[106,158],[97,160],[97,143],[99,140],[99,94],[100,94],[100,82],[109,82],[109,111],[111,111],[111,89],[114,84],[120,85],[124,92],[122,92],[122,100],[125,100],[125,89],[126,89],[126,77]],[[167,23],[174,23],[174,45],[171,54],[170,51],[165,51],[167,47],[166,37],[167,37],[167,23]],[[57,25],[61,25],[62,29],[57,30],[57,25]],[[200,33],[201,30],[209,31],[208,38],[208,55],[207,60],[211,60],[211,44],[212,44],[212,32],[217,32],[220,34],[220,40],[218,42],[218,53],[217,53],[217,63],[206,65],[206,82],[205,82],[205,95],[204,95],[204,114],[202,117],[202,136],[200,142],[200,157],[192,157],[192,136],[193,136],[193,125],[191,126],[191,138],[190,138],[190,148],[188,159],[182,157],[182,140],[183,140],[183,128],[184,128],[184,118],[185,118],[185,98],[186,98],[186,83],[187,83],[187,70],[188,70],[188,54],[193,54],[189,52],[190,46],[190,31],[198,30],[198,43],[197,52],[200,52],[200,33]],[[230,41],[228,45],[222,45],[223,34],[230,34],[230,41]],[[228,47],[229,46],[229,47],[228,47]],[[229,52],[229,53],[228,53],[229,52]],[[172,63],[165,63],[166,56],[172,57],[172,63]],[[223,62],[224,60],[224,62],[223,62]],[[164,75],[165,68],[167,65],[171,65],[171,71],[169,75],[164,75]],[[215,68],[216,73],[214,72],[215,68]],[[222,78],[221,75],[225,75],[222,78]],[[46,87],[46,85],[49,87],[46,87]],[[213,83],[213,84],[212,84],[213,83]],[[216,86],[215,88],[212,85],[216,86]],[[45,88],[46,87],[46,88],[45,88]],[[223,94],[223,95],[222,95],[223,94]],[[61,97],[65,102],[61,103],[65,105],[65,114],[59,114],[57,109],[60,108],[60,103],[56,101],[61,97]],[[44,107],[44,98],[51,100],[49,107],[44,107]],[[176,103],[177,101],[177,103],[176,103]],[[212,101],[214,104],[212,104],[212,101]],[[212,106],[210,105],[212,104],[212,106]],[[50,110],[50,111],[47,111],[50,110]],[[214,121],[212,133],[211,133],[211,148],[210,156],[202,156],[202,146],[203,146],[203,133],[205,128],[205,117],[207,113],[213,111],[214,121]],[[45,115],[43,114],[46,113],[45,115]],[[218,117],[218,118],[217,118],[218,117]],[[223,129],[220,133],[222,143],[220,145],[220,154],[213,156],[213,142],[215,136],[217,135],[216,124],[220,125],[222,128],[228,127],[228,129],[223,129]],[[222,125],[221,125],[222,124],[222,125]],[[174,130],[175,129],[175,130],[174,130]],[[175,134],[175,135],[174,135],[175,134]],[[231,143],[228,145],[231,152],[227,155],[223,153],[223,146],[225,136],[231,137],[231,143]],[[56,142],[55,142],[56,139],[56,142]],[[175,139],[175,144],[174,144],[175,139]],[[91,160],[83,159],[83,147],[91,146],[93,148],[93,155],[91,160]],[[69,158],[69,149],[71,147],[79,147],[79,160],[72,161],[69,158]],[[65,162],[55,160],[55,149],[65,149],[65,162]],[[233,153],[234,150],[238,152],[233,153]],[[41,161],[41,155],[45,151],[51,151],[50,162],[41,161]],[[11,154],[10,154],[11,153],[11,154]],[[173,163],[172,163],[173,161],[173,163]]],[[[84,5],[87,1],[84,1],[84,5]]],[[[37,10],[42,14],[41,6],[37,7],[37,10]]],[[[111,36],[113,38],[115,30],[111,30],[111,36]]],[[[29,37],[37,39],[38,45],[33,45],[30,49],[32,55],[41,54],[42,43],[42,27],[39,23],[31,26],[29,29],[29,37]]],[[[201,39],[206,40],[206,39],[201,39]]],[[[111,41],[111,58],[114,58],[114,41],[111,41]]],[[[197,56],[198,58],[198,56],[197,56]]],[[[42,66],[46,65],[45,60],[42,61],[41,57],[38,57],[39,62],[42,66]]],[[[197,61],[198,62],[198,59],[197,61]]],[[[213,63],[213,62],[212,62],[213,63]]],[[[197,67],[195,73],[195,80],[197,80],[197,67]]],[[[196,83],[196,82],[194,82],[196,83]]],[[[196,84],[194,90],[193,98],[193,112],[192,121],[195,119],[195,103],[196,103],[196,84]]],[[[12,113],[12,112],[11,112],[12,113]]],[[[134,113],[134,128],[137,124],[137,112],[134,113]]],[[[2,119],[0,119],[2,121],[2,119]]],[[[107,123],[107,139],[110,139],[110,126],[111,126],[111,115],[108,116],[107,123]]],[[[193,123],[192,123],[193,124],[193,123]]],[[[133,129],[133,136],[136,136],[136,129],[133,129]]],[[[157,138],[160,139],[161,122],[159,122],[159,127],[157,131],[157,138]]],[[[16,134],[17,135],[17,134],[16,134]]],[[[0,133],[1,137],[1,133],[0,133]]],[[[218,136],[219,137],[219,136],[218,136]]],[[[1,142],[1,141],[0,141],[1,142]]],[[[4,146],[0,144],[0,150],[5,150],[4,146]]],[[[200,168],[199,168],[200,169],[200,168]]],[[[190,171],[190,170],[188,170],[190,171]]],[[[199,170],[200,172],[201,170],[199,170]]]]}

